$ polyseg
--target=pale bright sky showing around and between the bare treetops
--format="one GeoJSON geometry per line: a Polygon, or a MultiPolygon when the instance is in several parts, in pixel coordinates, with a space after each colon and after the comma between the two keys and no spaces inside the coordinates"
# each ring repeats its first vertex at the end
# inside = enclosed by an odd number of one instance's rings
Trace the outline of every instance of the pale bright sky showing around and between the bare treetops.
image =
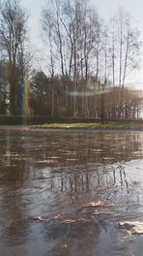
{"type": "MultiPolygon", "coordinates": [[[[97,6],[100,11],[100,16],[105,20],[114,15],[120,6],[123,6],[129,11],[129,14],[133,16],[133,21],[135,21],[135,25],[141,32],[140,39],[143,41],[143,0],[90,0],[90,2],[97,6]]],[[[32,38],[32,46],[37,51],[41,51],[43,48],[40,40],[40,16],[42,7],[45,6],[46,3],[48,3],[48,0],[21,0],[21,5],[28,10],[30,16],[30,37],[32,38]]],[[[140,71],[136,71],[132,74],[131,81],[143,81],[143,56],[140,71]]]]}

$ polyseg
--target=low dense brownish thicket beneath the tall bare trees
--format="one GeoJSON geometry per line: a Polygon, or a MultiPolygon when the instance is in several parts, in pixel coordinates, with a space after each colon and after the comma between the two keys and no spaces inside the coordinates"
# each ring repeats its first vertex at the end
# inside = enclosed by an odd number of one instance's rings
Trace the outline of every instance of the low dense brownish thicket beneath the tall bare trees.
{"type": "Polygon", "coordinates": [[[142,107],[140,91],[103,84],[89,89],[82,83],[75,91],[72,80],[49,79],[43,72],[33,76],[30,88],[29,106],[34,115],[130,119],[138,118],[142,107]]]}

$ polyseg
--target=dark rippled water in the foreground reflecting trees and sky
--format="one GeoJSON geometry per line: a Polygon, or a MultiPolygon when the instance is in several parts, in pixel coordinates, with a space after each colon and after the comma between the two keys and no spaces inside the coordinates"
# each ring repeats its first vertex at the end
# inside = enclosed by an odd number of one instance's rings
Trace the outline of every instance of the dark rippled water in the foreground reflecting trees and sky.
{"type": "Polygon", "coordinates": [[[0,255],[143,255],[143,133],[0,131],[0,255]]]}

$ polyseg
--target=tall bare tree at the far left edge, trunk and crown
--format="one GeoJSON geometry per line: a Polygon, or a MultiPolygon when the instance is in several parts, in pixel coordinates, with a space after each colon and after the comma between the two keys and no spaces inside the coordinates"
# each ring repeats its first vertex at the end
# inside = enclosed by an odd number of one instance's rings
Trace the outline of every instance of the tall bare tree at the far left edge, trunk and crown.
{"type": "MultiPolygon", "coordinates": [[[[3,0],[0,4],[0,42],[5,50],[8,61],[8,80],[10,84],[10,112],[16,113],[19,97],[17,80],[19,59],[23,59],[24,41],[26,39],[27,13],[18,0],[3,0]]],[[[21,62],[20,62],[21,64],[21,62]]]]}

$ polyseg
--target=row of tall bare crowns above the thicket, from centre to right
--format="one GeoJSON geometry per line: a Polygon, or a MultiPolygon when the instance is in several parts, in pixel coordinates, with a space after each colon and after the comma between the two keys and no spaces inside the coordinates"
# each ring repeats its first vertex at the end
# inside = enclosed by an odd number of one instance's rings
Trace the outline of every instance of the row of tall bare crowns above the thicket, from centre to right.
{"type": "Polygon", "coordinates": [[[138,66],[139,32],[122,8],[105,23],[87,0],[54,0],[43,9],[42,24],[51,76],[68,76],[75,87],[91,76],[96,85],[111,80],[124,87],[138,66]]]}

